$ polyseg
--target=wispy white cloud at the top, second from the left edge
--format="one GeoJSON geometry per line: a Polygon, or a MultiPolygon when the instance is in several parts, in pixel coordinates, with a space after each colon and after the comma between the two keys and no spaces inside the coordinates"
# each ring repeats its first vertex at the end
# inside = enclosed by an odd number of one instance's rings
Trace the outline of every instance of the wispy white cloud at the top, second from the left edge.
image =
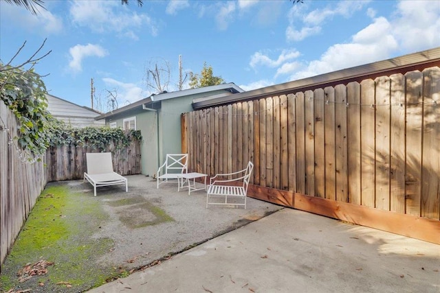
{"type": "Polygon", "coordinates": [[[146,14],[137,14],[124,10],[118,1],[73,1],[70,6],[72,21],[80,26],[89,27],[92,31],[118,32],[127,31],[133,38],[133,29],[142,30],[148,27],[153,36],[157,36],[157,27],[146,14]]]}

